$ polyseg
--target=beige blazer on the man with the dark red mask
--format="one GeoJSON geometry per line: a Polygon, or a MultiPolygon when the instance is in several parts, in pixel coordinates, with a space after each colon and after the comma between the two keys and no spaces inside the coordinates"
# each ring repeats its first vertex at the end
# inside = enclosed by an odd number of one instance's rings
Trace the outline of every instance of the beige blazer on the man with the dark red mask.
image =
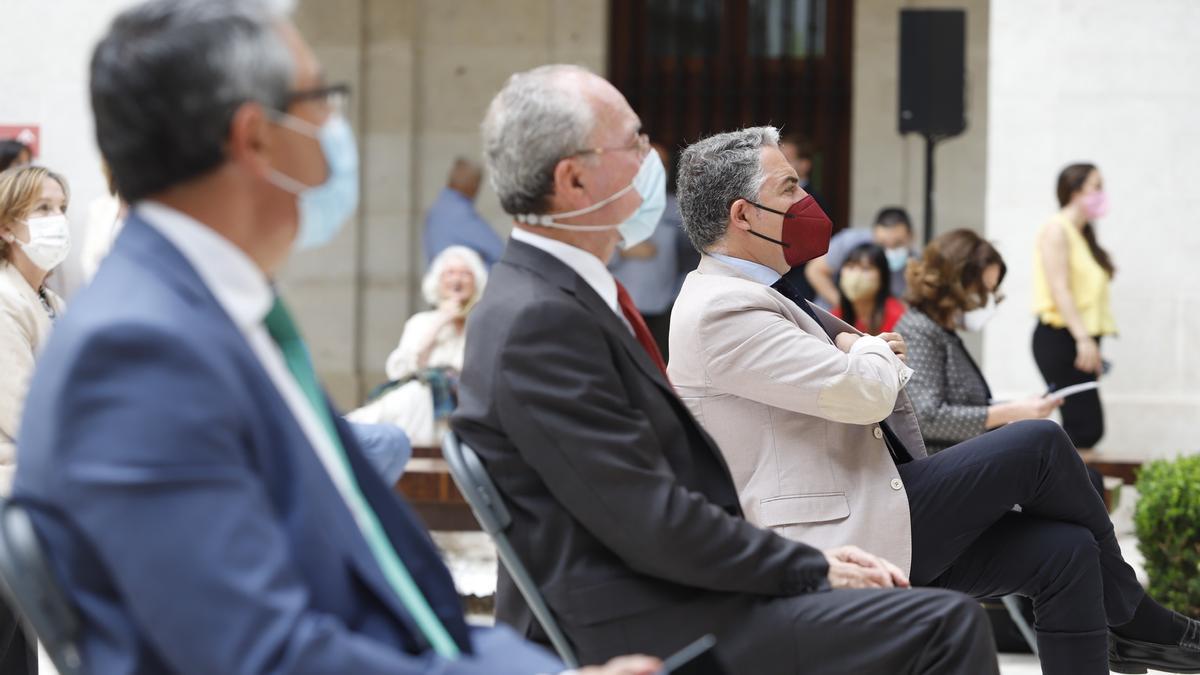
{"type": "Polygon", "coordinates": [[[904,482],[878,423],[925,456],[912,375],[878,338],[858,333],[704,256],[671,313],[667,372],[716,440],[746,518],[821,549],[854,544],[901,569],[912,563],[904,482]]]}

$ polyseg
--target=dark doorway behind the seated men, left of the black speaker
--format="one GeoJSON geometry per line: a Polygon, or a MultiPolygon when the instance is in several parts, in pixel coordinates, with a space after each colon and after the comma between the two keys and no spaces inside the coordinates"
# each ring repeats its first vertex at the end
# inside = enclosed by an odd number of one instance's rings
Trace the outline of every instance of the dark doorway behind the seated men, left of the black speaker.
{"type": "Polygon", "coordinates": [[[608,79],[672,148],[773,124],[814,147],[836,226],[850,202],[853,0],[611,0],[608,79]]]}

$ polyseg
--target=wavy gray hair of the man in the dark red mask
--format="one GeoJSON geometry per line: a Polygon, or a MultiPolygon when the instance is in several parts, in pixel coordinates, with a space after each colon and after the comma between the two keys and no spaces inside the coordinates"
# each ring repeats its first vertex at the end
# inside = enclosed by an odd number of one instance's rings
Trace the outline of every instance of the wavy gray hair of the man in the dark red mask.
{"type": "Polygon", "coordinates": [[[683,151],[676,192],[683,229],[697,251],[708,251],[725,237],[730,204],[758,198],[767,181],[762,149],[778,147],[778,129],[754,126],[709,136],[683,151]]]}

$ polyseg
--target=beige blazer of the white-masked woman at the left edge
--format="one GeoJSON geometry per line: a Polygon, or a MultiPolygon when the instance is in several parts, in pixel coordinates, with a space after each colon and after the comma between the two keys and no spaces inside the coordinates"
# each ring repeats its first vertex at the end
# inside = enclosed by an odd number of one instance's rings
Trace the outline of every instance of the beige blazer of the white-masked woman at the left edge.
{"type": "MultiPolygon", "coordinates": [[[[46,295],[54,311],[62,300],[52,291],[46,295]]],[[[20,413],[34,375],[34,358],[50,333],[50,315],[37,292],[20,271],[0,261],[0,495],[12,489],[17,470],[17,431],[20,413]]]]}

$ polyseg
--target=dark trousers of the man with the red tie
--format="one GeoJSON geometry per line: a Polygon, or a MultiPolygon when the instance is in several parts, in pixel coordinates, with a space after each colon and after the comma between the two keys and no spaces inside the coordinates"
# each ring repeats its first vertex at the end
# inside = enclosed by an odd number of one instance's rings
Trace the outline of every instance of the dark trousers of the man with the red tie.
{"type": "MultiPolygon", "coordinates": [[[[661,599],[647,599],[650,603],[661,599]]],[[[697,590],[632,616],[572,627],[583,663],[665,657],[712,633],[730,673],[998,675],[978,602],[942,589],[862,589],[763,597],[697,590]]]]}

